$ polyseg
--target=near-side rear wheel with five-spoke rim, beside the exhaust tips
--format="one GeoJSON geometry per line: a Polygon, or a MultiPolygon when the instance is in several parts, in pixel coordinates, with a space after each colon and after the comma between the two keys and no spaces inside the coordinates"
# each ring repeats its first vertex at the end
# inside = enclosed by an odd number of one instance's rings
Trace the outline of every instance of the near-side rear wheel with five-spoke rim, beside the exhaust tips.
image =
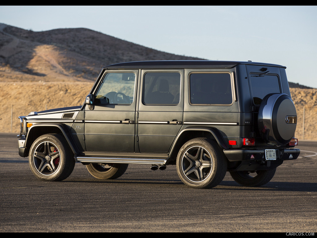
{"type": "Polygon", "coordinates": [[[179,150],[176,169],[184,184],[192,188],[213,188],[226,175],[227,160],[216,142],[195,138],[179,150]]]}

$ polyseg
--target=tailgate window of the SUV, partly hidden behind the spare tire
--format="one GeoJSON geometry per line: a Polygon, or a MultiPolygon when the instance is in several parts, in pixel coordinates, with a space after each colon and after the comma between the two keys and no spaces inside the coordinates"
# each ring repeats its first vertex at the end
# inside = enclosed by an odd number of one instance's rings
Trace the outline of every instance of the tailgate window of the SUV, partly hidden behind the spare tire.
{"type": "Polygon", "coordinates": [[[264,74],[251,74],[250,76],[254,104],[261,104],[262,99],[269,93],[281,93],[278,76],[264,74]]]}

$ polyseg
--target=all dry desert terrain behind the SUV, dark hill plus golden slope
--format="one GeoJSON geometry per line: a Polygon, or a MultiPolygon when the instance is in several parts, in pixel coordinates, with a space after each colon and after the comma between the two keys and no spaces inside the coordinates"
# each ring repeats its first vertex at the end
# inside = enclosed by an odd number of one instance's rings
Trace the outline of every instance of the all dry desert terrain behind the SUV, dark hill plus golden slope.
{"type": "MultiPolygon", "coordinates": [[[[202,59],[154,50],[85,28],[34,32],[0,23],[0,132],[17,133],[17,117],[30,111],[82,105],[102,67],[140,60],[202,59]]],[[[295,136],[315,139],[317,123],[312,118],[317,89],[298,83],[289,86],[298,115],[295,136]]]]}

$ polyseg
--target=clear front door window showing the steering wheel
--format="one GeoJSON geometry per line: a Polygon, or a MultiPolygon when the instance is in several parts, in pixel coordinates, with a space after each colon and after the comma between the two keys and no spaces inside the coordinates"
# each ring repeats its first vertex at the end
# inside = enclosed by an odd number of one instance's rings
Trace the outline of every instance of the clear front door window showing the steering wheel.
{"type": "Polygon", "coordinates": [[[134,73],[107,73],[95,96],[97,104],[131,104],[134,95],[134,73]]]}

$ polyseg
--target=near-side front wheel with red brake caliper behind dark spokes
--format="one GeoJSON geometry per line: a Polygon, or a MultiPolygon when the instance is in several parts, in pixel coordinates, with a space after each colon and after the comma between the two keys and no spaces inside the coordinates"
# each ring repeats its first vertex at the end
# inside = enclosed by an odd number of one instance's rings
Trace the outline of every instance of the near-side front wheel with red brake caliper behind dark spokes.
{"type": "Polygon", "coordinates": [[[61,181],[74,170],[75,160],[65,138],[58,134],[38,137],[29,153],[29,165],[33,174],[45,181],[61,181]]]}

